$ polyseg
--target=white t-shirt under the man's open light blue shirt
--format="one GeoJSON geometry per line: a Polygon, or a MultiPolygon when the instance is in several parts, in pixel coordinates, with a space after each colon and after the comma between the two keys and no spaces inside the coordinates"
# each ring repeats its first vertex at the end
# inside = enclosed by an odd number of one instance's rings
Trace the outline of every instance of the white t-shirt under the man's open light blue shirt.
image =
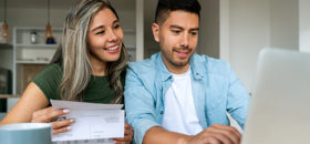
{"type": "Polygon", "coordinates": [[[195,135],[203,131],[195,110],[190,69],[173,74],[174,82],[165,94],[165,113],[162,126],[170,132],[195,135]]]}

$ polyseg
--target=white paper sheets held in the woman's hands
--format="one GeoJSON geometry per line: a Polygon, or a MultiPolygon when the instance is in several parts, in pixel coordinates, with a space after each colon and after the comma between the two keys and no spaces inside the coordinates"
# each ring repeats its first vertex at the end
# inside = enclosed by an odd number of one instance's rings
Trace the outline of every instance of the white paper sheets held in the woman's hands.
{"type": "Polygon", "coordinates": [[[53,142],[124,137],[123,104],[51,101],[53,109],[70,109],[64,119],[75,119],[69,132],[52,136],[53,142]]]}

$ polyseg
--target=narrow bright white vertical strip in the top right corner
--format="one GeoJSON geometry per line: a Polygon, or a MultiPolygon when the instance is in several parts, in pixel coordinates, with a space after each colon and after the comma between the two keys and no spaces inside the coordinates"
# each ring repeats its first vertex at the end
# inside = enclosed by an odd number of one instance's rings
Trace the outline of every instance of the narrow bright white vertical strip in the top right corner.
{"type": "Polygon", "coordinates": [[[299,0],[299,47],[310,52],[310,0],[299,0]]]}

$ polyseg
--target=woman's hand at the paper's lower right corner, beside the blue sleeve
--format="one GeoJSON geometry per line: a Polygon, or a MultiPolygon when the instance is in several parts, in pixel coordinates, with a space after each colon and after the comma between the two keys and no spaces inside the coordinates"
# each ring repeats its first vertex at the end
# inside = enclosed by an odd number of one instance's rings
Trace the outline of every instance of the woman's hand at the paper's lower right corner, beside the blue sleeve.
{"type": "Polygon", "coordinates": [[[131,144],[133,136],[134,136],[134,131],[133,126],[130,125],[128,123],[125,123],[124,125],[124,137],[122,138],[112,138],[116,144],[131,144]]]}

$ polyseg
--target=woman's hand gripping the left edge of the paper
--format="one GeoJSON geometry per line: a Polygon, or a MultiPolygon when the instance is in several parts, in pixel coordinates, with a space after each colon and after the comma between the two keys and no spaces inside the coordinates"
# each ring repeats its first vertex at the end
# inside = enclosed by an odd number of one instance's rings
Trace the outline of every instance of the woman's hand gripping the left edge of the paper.
{"type": "Polygon", "coordinates": [[[50,123],[53,126],[53,134],[63,133],[71,130],[73,119],[56,120],[61,115],[70,113],[68,109],[54,110],[52,106],[35,111],[32,114],[31,123],[50,123]],[[53,121],[56,120],[56,121],[53,121]]]}

